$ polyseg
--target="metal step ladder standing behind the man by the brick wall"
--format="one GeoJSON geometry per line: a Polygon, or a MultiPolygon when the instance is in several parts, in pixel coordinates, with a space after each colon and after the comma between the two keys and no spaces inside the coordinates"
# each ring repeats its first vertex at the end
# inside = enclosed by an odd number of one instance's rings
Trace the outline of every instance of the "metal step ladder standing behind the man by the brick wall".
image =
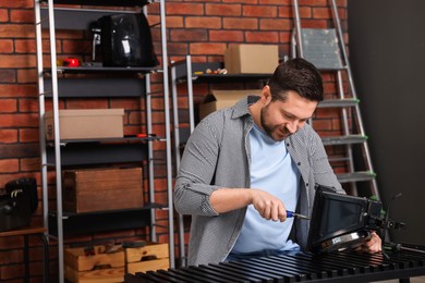
{"type": "MultiPolygon", "coordinates": [[[[326,77],[330,75],[335,83],[335,94],[327,94],[325,90],[325,100],[319,103],[317,113],[337,111],[341,121],[341,125],[332,131],[331,135],[319,133],[339,182],[350,195],[375,196],[379,199],[338,7],[336,0],[329,2],[328,9],[332,12],[333,28],[303,28],[299,2],[293,0],[295,28],[291,42],[292,58],[308,60],[326,74],[326,77]]],[[[316,115],[309,121],[313,127],[319,119],[316,115]]]]}

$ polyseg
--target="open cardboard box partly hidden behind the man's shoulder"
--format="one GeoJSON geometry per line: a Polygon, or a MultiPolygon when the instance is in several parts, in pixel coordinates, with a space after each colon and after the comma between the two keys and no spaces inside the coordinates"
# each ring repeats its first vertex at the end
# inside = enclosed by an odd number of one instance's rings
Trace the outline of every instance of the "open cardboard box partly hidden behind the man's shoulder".
{"type": "Polygon", "coordinates": [[[244,96],[259,96],[260,94],[262,89],[212,90],[212,94],[207,95],[203,103],[199,104],[199,120],[216,110],[234,106],[244,96]]]}

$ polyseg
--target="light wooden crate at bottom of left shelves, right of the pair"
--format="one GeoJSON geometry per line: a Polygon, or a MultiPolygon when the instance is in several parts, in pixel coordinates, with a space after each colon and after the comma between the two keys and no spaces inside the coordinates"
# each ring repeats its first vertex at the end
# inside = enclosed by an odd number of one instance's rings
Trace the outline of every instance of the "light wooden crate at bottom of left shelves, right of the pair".
{"type": "Polygon", "coordinates": [[[144,247],[125,249],[126,272],[146,272],[149,270],[169,269],[168,244],[149,243],[144,247]]]}

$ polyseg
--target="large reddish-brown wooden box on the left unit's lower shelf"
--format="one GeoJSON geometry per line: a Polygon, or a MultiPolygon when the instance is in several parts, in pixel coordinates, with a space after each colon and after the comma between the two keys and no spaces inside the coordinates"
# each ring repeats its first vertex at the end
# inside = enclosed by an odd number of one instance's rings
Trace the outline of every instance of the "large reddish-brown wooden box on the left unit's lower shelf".
{"type": "Polygon", "coordinates": [[[142,168],[69,170],[63,173],[64,211],[92,212],[142,206],[142,168]]]}

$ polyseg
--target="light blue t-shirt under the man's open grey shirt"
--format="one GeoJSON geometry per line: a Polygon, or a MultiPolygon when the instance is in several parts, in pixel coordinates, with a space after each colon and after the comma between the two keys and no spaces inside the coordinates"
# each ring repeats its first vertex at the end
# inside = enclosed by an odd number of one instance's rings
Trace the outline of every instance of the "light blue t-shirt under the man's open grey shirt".
{"type": "MultiPolygon", "coordinates": [[[[287,151],[284,140],[274,140],[255,125],[250,132],[250,142],[251,187],[270,193],[283,201],[287,210],[295,211],[300,172],[287,151]]],[[[288,218],[284,222],[266,220],[250,205],[232,251],[298,249],[298,244],[288,241],[292,224],[293,218],[288,218]]]]}

